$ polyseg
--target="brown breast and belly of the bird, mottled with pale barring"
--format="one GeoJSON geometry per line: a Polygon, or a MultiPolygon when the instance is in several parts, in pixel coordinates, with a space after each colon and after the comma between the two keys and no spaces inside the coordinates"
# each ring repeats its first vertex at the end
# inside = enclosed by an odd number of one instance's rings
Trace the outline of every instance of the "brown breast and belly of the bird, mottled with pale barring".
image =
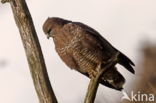
{"type": "Polygon", "coordinates": [[[56,51],[61,59],[70,68],[82,73],[86,73],[86,69],[95,69],[97,64],[103,61],[102,51],[90,45],[87,36],[83,28],[69,23],[55,39],[56,51]]]}

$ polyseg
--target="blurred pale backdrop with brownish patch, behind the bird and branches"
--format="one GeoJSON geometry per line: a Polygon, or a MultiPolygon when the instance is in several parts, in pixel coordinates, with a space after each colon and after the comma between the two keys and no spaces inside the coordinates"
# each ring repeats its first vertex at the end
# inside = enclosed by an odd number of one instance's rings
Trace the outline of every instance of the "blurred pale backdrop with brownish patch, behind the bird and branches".
{"type": "MultiPolygon", "coordinates": [[[[47,40],[42,31],[42,25],[48,17],[80,21],[96,29],[136,64],[135,75],[117,65],[126,78],[124,90],[128,96],[132,91],[156,96],[155,0],[26,2],[59,103],[83,103],[89,79],[70,70],[56,54],[52,39],[47,40]]],[[[0,35],[0,103],[38,103],[22,41],[9,4],[0,4],[0,35]]],[[[122,96],[122,92],[100,85],[95,103],[129,103],[128,100],[121,100],[122,96]]],[[[156,97],[153,103],[156,103],[156,97]]]]}

